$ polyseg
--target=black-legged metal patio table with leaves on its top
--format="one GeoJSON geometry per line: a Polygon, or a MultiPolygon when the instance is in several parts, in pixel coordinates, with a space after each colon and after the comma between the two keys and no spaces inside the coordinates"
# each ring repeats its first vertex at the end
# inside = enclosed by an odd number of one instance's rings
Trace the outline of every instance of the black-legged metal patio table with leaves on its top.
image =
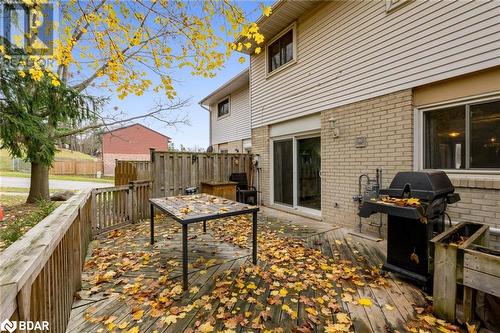
{"type": "Polygon", "coordinates": [[[176,197],[149,199],[151,205],[150,232],[154,244],[154,209],[172,217],[182,225],[182,288],[188,289],[188,225],[236,215],[252,214],[252,262],[257,264],[257,212],[259,207],[224,199],[209,194],[195,194],[176,197]]]}

